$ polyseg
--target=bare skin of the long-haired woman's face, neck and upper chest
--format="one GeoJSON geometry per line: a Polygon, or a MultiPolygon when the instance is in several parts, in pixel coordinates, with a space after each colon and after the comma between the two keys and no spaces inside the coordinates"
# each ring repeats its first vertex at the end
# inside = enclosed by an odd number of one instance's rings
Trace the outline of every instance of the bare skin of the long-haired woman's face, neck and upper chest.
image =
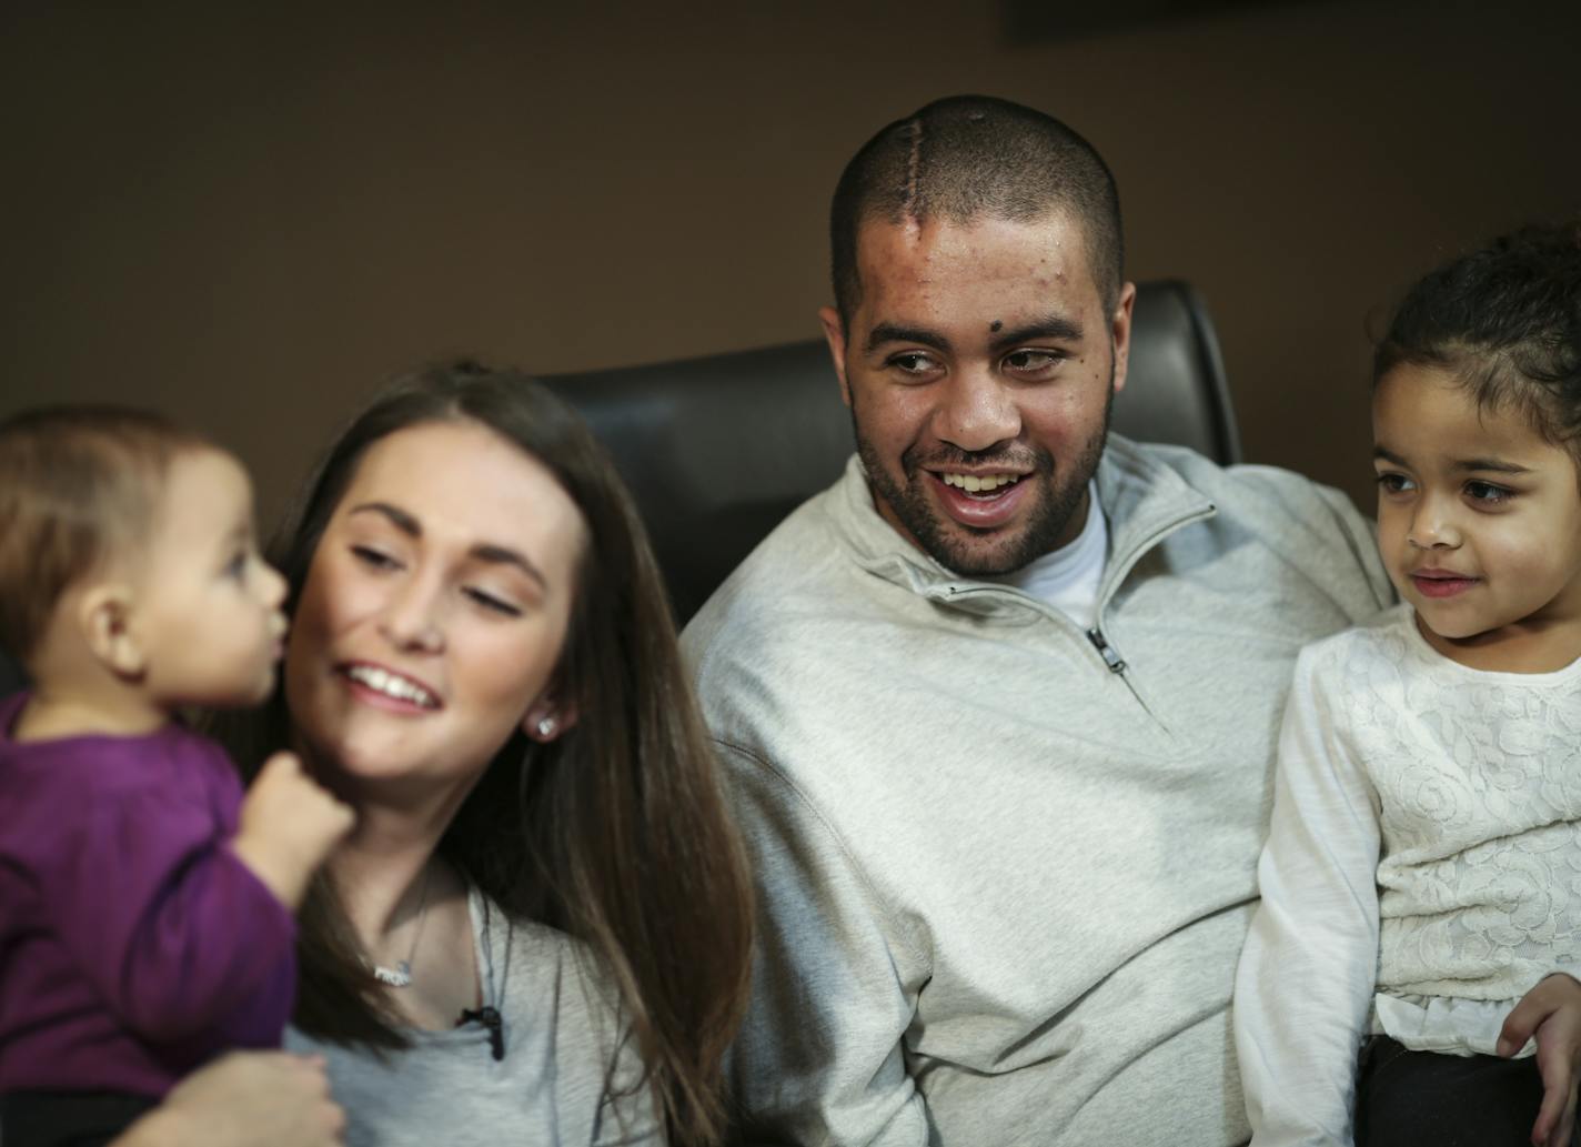
{"type": "Polygon", "coordinates": [[[542,464],[432,422],[368,448],[308,570],[286,698],[311,770],[359,813],[329,862],[346,913],[375,960],[411,959],[391,1001],[419,1027],[477,1006],[465,884],[433,850],[515,729],[549,740],[575,720],[557,666],[585,544],[542,464]],[[389,696],[370,671],[422,693],[389,696]]]}

